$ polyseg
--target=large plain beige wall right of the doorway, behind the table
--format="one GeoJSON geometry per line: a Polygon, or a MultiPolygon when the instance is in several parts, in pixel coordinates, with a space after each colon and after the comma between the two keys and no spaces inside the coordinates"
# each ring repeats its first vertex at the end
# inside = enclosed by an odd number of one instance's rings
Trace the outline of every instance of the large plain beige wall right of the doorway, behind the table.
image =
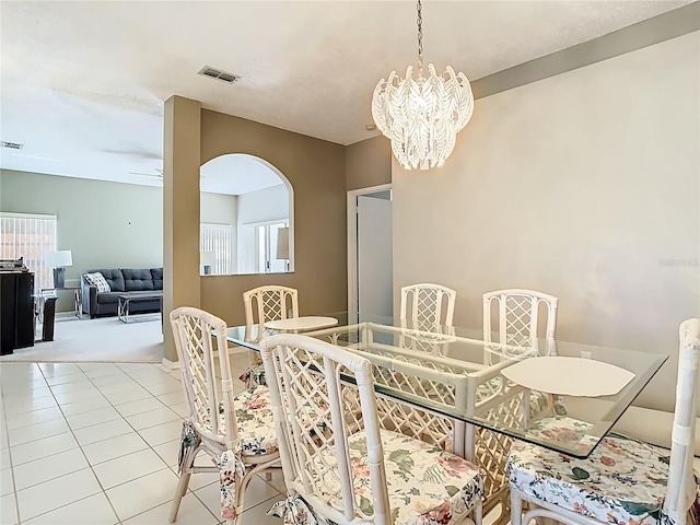
{"type": "Polygon", "coordinates": [[[480,98],[442,168],[393,163],[394,290],[560,299],[563,340],[669,354],[638,399],[672,410],[700,314],[700,33],[480,98]]]}

